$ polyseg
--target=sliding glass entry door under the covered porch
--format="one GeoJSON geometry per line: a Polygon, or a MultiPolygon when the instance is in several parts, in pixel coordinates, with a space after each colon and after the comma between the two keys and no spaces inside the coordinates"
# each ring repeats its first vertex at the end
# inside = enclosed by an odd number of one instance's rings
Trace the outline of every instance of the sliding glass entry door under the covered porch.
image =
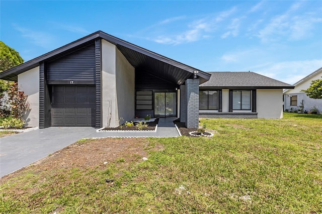
{"type": "Polygon", "coordinates": [[[177,115],[177,93],[155,92],[154,93],[154,116],[176,117],[177,115]]]}

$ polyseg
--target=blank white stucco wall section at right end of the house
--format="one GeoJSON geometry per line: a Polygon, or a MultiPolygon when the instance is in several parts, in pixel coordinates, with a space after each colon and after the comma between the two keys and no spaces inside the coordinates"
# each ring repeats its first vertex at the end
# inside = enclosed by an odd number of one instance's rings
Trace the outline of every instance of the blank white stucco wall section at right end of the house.
{"type": "Polygon", "coordinates": [[[256,99],[258,118],[283,118],[282,89],[257,89],[256,99]]]}

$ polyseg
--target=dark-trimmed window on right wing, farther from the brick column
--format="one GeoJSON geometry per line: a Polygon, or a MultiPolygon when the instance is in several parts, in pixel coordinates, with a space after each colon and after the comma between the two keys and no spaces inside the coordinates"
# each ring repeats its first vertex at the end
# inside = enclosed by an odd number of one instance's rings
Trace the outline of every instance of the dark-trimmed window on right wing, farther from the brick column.
{"type": "Polygon", "coordinates": [[[234,90],[232,91],[232,110],[251,110],[252,91],[234,90]]]}

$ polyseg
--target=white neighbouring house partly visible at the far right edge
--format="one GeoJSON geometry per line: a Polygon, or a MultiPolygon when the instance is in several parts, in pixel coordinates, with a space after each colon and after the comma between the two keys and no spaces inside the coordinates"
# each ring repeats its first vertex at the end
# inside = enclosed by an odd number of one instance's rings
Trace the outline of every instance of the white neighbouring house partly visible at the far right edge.
{"type": "Polygon", "coordinates": [[[300,109],[301,102],[303,100],[304,109],[303,111],[310,111],[313,106],[318,110],[318,113],[322,112],[322,99],[312,99],[306,95],[305,92],[301,90],[307,89],[311,85],[311,81],[315,79],[322,78],[322,67],[314,71],[313,73],[305,76],[303,79],[299,80],[294,84],[294,88],[285,89],[283,91],[283,100],[284,100],[284,111],[291,109],[300,109]]]}

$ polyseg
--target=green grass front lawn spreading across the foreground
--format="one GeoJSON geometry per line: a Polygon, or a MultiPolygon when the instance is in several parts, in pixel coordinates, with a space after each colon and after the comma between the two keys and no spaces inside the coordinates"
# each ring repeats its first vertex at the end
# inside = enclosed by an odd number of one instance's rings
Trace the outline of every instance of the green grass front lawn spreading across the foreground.
{"type": "Polygon", "coordinates": [[[322,115],[204,123],[214,137],[149,139],[147,161],[26,170],[0,213],[322,213],[322,115]]]}

